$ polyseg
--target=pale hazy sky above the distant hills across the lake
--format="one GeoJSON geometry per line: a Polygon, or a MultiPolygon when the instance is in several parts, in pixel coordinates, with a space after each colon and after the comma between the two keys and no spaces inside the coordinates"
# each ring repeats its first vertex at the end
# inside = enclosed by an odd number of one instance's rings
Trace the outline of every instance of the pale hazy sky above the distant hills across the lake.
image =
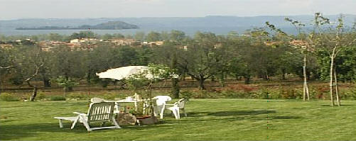
{"type": "Polygon", "coordinates": [[[0,0],[0,19],[356,14],[356,0],[0,0]]]}

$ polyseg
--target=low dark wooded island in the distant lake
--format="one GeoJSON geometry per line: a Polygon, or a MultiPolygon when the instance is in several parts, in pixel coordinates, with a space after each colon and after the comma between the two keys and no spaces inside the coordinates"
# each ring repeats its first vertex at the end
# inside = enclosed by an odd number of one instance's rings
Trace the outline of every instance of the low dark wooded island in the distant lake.
{"type": "Polygon", "coordinates": [[[137,29],[139,26],[125,23],[123,21],[109,21],[107,23],[100,23],[95,26],[83,25],[79,27],[59,27],[59,26],[43,26],[39,28],[16,28],[16,30],[120,30],[120,29],[137,29]]]}

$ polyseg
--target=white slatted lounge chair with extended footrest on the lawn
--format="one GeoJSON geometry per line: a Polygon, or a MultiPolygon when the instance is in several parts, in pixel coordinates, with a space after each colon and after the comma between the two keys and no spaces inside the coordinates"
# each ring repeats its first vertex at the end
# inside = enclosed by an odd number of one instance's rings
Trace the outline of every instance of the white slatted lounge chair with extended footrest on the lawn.
{"type": "Polygon", "coordinates": [[[100,103],[90,103],[88,113],[77,113],[77,116],[74,117],[54,117],[59,120],[60,128],[63,128],[62,120],[72,121],[72,128],[75,127],[75,124],[79,121],[83,123],[85,128],[88,131],[98,130],[98,129],[112,129],[120,128],[119,124],[114,117],[114,102],[100,102],[100,103]],[[105,123],[111,121],[114,126],[100,127],[100,128],[90,128],[90,123],[105,123]]]}

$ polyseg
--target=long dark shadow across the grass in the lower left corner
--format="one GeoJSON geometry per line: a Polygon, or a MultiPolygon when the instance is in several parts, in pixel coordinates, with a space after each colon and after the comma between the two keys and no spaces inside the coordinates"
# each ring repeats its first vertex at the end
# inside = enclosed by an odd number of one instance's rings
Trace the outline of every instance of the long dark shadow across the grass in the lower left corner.
{"type": "MultiPolygon", "coordinates": [[[[93,124],[91,127],[98,127],[99,123],[93,124]]],[[[70,129],[71,123],[63,123],[63,128],[59,128],[58,123],[33,123],[26,125],[1,125],[0,140],[21,140],[23,137],[36,137],[41,132],[58,133],[65,136],[66,134],[88,134],[87,129],[82,123],[77,123],[74,129],[70,129]]],[[[158,123],[156,125],[142,125],[142,126],[121,126],[121,129],[104,129],[94,130],[95,134],[103,132],[127,132],[130,130],[147,130],[149,128],[166,128],[172,125],[163,125],[158,123]]],[[[58,134],[56,134],[58,135],[58,134]]]]}

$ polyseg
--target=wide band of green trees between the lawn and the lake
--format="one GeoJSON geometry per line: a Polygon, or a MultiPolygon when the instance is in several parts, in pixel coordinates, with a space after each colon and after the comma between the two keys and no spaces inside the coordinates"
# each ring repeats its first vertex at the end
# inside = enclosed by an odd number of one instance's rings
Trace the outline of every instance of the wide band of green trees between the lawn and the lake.
{"type": "MultiPolygon", "coordinates": [[[[304,99],[308,98],[308,79],[330,80],[334,105],[333,91],[338,89],[335,82],[356,79],[355,29],[345,30],[342,17],[337,25],[332,25],[320,13],[315,13],[313,30],[303,31],[303,23],[289,18],[286,21],[296,26],[298,35],[288,35],[266,22],[265,28],[250,30],[247,35],[198,32],[189,37],[173,30],[165,33],[163,46],[154,47],[99,43],[91,51],[70,51],[69,47],[59,46],[44,52],[37,45],[1,48],[0,82],[16,85],[27,82],[31,86],[31,80],[37,79],[50,86],[50,80],[58,77],[100,82],[96,72],[153,63],[170,66],[182,79],[192,77],[200,89],[205,89],[207,79],[216,79],[224,86],[227,77],[244,78],[248,84],[252,77],[286,79],[286,74],[296,74],[305,81],[304,99]],[[293,40],[299,43],[291,43],[293,40]]],[[[136,33],[136,36],[137,40],[163,40],[161,33],[136,33]]],[[[173,83],[177,81],[174,79],[173,83]]],[[[335,96],[340,105],[338,94],[335,96]]]]}

